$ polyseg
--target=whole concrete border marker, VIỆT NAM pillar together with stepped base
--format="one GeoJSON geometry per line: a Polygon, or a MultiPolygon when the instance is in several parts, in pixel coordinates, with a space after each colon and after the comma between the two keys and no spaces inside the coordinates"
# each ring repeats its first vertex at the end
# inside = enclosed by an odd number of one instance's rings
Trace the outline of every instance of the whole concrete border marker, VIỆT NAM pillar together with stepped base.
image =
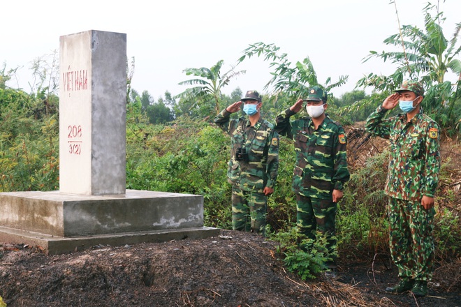
{"type": "Polygon", "coordinates": [[[59,191],[0,193],[0,242],[70,253],[219,234],[203,196],[126,190],[126,34],[60,38],[59,191]]]}

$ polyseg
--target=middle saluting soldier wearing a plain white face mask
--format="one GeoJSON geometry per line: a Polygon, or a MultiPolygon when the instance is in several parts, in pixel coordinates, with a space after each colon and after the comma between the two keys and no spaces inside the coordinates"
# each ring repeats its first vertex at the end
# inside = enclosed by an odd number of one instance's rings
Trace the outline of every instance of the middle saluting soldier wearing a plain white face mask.
{"type": "Polygon", "coordinates": [[[349,180],[346,161],[346,134],[332,121],[327,109],[327,93],[311,87],[306,99],[298,100],[281,112],[275,130],[295,141],[296,164],[293,191],[296,193],[298,230],[315,240],[316,230],[326,235],[332,261],[326,266],[334,276],[336,264],[335,216],[343,186],[349,180]],[[290,122],[290,117],[306,102],[309,117],[290,122]]]}

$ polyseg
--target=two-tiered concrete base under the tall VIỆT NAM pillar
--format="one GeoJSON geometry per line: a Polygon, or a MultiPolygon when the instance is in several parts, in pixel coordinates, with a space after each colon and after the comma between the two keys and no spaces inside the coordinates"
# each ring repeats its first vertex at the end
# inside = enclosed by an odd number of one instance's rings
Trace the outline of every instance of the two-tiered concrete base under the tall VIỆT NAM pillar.
{"type": "Polygon", "coordinates": [[[110,246],[205,238],[203,196],[126,190],[122,195],[0,193],[0,241],[58,254],[110,246]]]}

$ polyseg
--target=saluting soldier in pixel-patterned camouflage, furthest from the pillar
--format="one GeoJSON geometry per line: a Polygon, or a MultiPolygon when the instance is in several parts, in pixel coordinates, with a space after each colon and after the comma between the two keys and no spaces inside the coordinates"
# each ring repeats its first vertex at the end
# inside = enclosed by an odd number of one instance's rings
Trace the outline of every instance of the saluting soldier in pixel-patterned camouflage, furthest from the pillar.
{"type": "Polygon", "coordinates": [[[439,126],[420,107],[420,82],[405,81],[369,115],[366,130],[390,140],[385,192],[389,198],[389,245],[400,281],[386,291],[427,295],[434,257],[434,194],[440,167],[439,126]],[[396,105],[403,113],[384,119],[396,105]]]}

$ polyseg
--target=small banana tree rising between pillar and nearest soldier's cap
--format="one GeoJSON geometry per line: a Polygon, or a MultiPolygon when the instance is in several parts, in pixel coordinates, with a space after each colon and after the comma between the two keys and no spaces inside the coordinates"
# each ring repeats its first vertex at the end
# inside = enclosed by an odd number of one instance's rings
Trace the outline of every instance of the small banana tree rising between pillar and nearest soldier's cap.
{"type": "Polygon", "coordinates": [[[221,75],[223,64],[224,61],[221,60],[212,68],[186,68],[183,70],[186,75],[193,75],[197,78],[180,82],[180,85],[194,85],[194,87],[189,87],[189,89],[177,94],[175,98],[192,100],[191,107],[211,99],[214,101],[214,110],[218,114],[221,111],[221,90],[229,84],[231,78],[245,73],[245,70],[235,71],[231,68],[221,75]]]}

